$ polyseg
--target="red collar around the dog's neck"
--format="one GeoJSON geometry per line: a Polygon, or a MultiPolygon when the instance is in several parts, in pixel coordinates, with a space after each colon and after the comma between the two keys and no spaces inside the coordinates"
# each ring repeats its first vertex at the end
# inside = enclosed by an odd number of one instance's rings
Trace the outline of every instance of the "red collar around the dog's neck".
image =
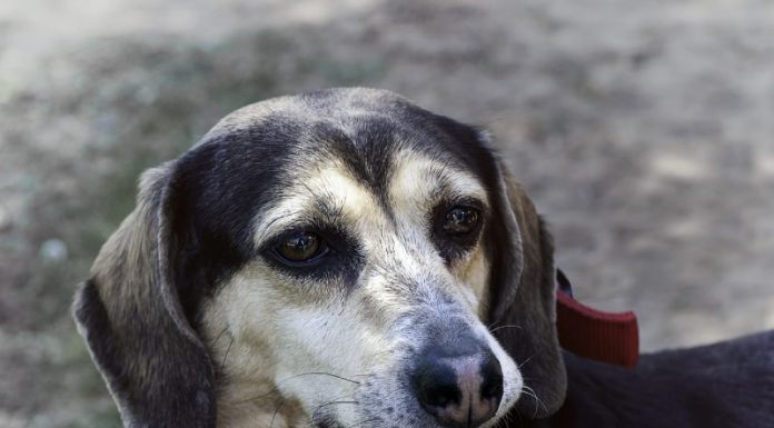
{"type": "Polygon", "coordinates": [[[593,360],[636,366],[639,335],[634,312],[603,312],[585,306],[573,298],[569,281],[558,269],[556,279],[556,329],[562,347],[593,360]]]}

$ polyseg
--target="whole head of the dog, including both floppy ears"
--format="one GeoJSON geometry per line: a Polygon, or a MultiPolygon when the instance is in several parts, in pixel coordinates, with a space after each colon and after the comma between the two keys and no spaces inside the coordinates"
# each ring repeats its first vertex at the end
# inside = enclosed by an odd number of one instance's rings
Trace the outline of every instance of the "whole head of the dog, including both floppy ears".
{"type": "Polygon", "coordinates": [[[492,426],[562,402],[550,256],[480,132],[328,90],[146,172],[75,313],[130,427],[492,426]]]}

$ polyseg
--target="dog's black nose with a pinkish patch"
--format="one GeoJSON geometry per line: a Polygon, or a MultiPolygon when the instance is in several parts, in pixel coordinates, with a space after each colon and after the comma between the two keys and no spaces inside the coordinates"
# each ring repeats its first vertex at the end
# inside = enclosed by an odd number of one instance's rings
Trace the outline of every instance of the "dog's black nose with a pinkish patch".
{"type": "Polygon", "coordinates": [[[449,428],[480,426],[495,416],[503,398],[503,369],[490,351],[448,356],[428,349],[411,382],[421,407],[449,428]]]}

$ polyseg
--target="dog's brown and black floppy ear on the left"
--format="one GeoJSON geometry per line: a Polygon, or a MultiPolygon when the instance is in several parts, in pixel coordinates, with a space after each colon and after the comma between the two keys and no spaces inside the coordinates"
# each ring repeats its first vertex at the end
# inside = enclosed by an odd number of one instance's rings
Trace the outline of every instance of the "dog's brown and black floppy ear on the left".
{"type": "Polygon", "coordinates": [[[210,359],[173,267],[173,163],[142,175],[137,208],[100,250],[73,316],[130,428],[215,427],[210,359]]]}

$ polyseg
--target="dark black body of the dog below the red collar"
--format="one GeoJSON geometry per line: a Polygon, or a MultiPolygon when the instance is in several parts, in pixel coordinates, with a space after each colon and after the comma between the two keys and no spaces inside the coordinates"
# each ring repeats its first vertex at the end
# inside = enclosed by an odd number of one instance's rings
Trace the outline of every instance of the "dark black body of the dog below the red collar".
{"type": "Polygon", "coordinates": [[[634,368],[565,352],[567,398],[524,427],[774,427],[774,331],[646,354],[634,368]]]}

